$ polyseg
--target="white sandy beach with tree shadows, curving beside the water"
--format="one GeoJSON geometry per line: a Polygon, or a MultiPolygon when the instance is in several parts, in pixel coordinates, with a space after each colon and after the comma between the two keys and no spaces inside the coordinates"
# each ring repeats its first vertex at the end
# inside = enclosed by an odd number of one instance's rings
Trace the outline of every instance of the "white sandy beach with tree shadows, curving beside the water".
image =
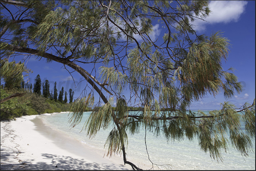
{"type": "Polygon", "coordinates": [[[1,170],[131,170],[44,126],[37,115],[1,121],[1,170]],[[54,137],[54,138],[52,138],[54,137]]]}

